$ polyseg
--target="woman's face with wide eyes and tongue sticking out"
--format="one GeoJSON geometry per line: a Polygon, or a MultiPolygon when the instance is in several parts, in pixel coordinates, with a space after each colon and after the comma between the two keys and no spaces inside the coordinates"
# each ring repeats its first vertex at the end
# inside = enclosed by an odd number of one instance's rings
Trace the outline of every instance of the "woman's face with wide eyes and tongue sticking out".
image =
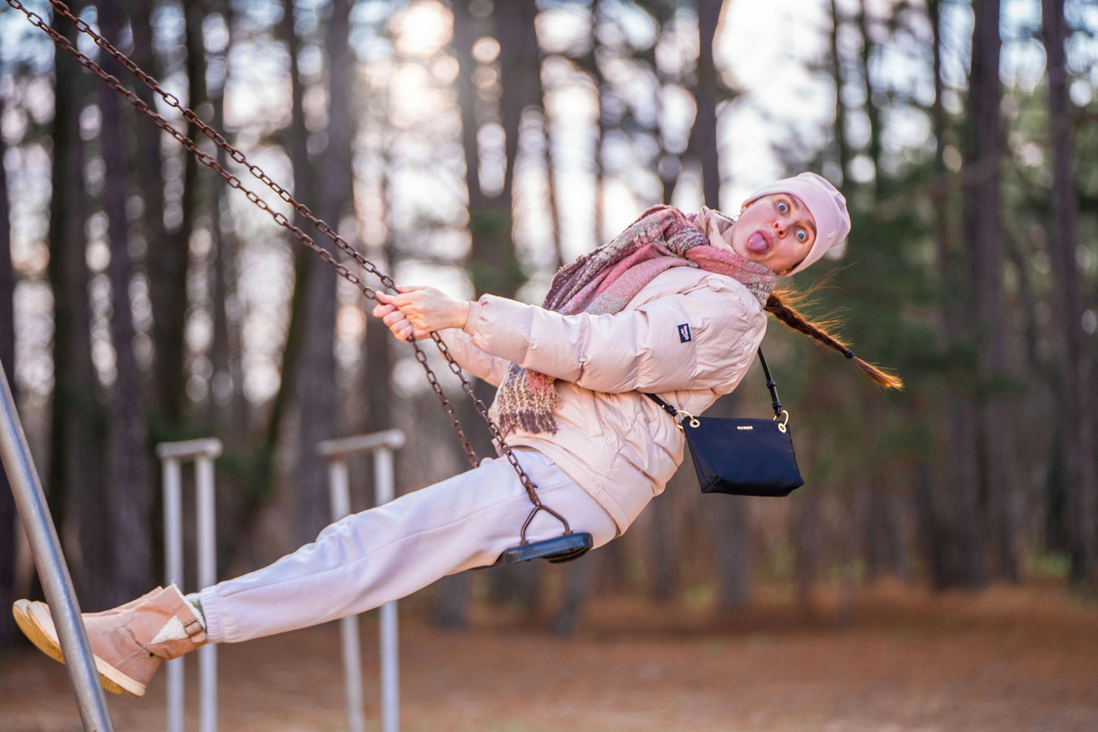
{"type": "Polygon", "coordinates": [[[816,222],[800,199],[773,193],[740,209],[732,226],[732,250],[777,274],[796,267],[813,248],[816,222]]]}

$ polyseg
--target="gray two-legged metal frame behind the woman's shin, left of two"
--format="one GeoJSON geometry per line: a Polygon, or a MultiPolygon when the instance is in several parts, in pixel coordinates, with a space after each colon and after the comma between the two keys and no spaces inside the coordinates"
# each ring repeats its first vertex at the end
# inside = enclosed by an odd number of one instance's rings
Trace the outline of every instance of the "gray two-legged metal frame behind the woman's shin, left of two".
{"type": "MultiPolygon", "coordinates": [[[[164,463],[164,553],[169,584],[183,588],[183,509],[180,463],[194,461],[194,498],[198,521],[199,588],[217,582],[217,547],[214,528],[213,460],[221,454],[221,440],[206,438],[161,442],[156,454],[164,463]]],[[[199,730],[217,730],[217,646],[203,645],[199,654],[199,730]]],[[[168,732],[183,732],[183,658],[168,662],[168,732]]]]}

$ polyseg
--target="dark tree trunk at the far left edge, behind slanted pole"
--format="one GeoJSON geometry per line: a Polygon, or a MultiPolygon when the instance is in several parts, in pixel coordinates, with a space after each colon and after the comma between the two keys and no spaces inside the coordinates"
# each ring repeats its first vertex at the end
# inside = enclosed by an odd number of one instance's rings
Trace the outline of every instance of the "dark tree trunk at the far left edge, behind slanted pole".
{"type": "MultiPolygon", "coordinates": [[[[0,97],[0,119],[3,98],[0,97]]],[[[0,135],[0,363],[9,385],[15,385],[15,274],[11,266],[11,221],[8,203],[8,173],[3,158],[8,146],[0,135]]],[[[8,474],[0,471],[0,608],[7,610],[15,600],[15,498],[8,474]]],[[[14,642],[15,623],[10,612],[0,612],[0,653],[14,642]]]]}

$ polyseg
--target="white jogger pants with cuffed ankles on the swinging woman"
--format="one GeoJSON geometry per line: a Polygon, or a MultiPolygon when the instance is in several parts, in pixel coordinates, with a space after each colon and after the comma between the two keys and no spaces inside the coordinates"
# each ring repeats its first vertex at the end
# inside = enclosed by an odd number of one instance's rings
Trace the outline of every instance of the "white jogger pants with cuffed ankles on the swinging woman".
{"type": "MultiPolygon", "coordinates": [[[[595,547],[617,533],[609,515],[541,453],[516,449],[542,503],[590,532],[595,547]]],[[[506,460],[352,514],[311,544],[250,574],[204,588],[199,598],[214,643],[315,626],[384,605],[436,579],[493,563],[518,543],[533,505],[506,460]]],[[[560,536],[539,511],[527,539],[560,536]]]]}

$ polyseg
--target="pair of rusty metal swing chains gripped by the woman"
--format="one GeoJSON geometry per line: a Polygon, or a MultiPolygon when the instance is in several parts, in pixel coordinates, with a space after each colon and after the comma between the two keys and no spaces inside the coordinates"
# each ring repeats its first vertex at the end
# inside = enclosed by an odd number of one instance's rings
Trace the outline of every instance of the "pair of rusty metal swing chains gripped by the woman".
{"type": "MultiPolygon", "coordinates": [[[[11,5],[15,10],[26,15],[27,20],[33,25],[45,32],[46,35],[48,35],[58,47],[64,48],[68,53],[72,54],[81,66],[83,66],[89,71],[91,71],[100,79],[102,79],[111,89],[122,94],[131,104],[133,104],[134,108],[136,108],[139,112],[142,112],[146,116],[148,116],[153,121],[153,123],[156,124],[157,127],[171,135],[177,142],[179,142],[180,145],[183,146],[184,149],[193,153],[198,157],[200,162],[202,162],[204,166],[216,172],[229,188],[235,188],[242,191],[245,194],[245,196],[247,196],[248,201],[250,201],[256,206],[265,211],[267,214],[271,216],[271,218],[274,219],[277,224],[279,224],[280,226],[288,229],[291,234],[293,234],[294,237],[296,237],[296,239],[302,245],[314,251],[316,256],[321,258],[322,261],[335,268],[335,270],[344,279],[346,279],[348,282],[358,288],[365,297],[369,300],[377,300],[373,290],[370,286],[368,286],[357,274],[351,272],[346,266],[344,266],[335,257],[333,257],[332,252],[329,252],[327,249],[316,244],[316,241],[309,234],[306,234],[300,227],[294,225],[293,222],[291,222],[284,214],[271,209],[270,205],[264,199],[259,198],[259,195],[257,195],[254,191],[245,187],[240,182],[239,178],[237,178],[229,171],[225,170],[225,168],[216,160],[216,158],[199,149],[198,144],[193,139],[191,139],[183,133],[179,132],[175,127],[175,125],[168,122],[168,120],[166,120],[163,115],[160,115],[156,110],[152,109],[136,93],[124,87],[116,77],[112,76],[111,74],[108,74],[92,58],[88,57],[86,54],[80,52],[76,46],[72,45],[72,43],[67,37],[65,37],[60,33],[55,31],[53,27],[51,27],[51,25],[47,22],[45,22],[45,20],[43,20],[41,15],[24,8],[22,2],[20,2],[20,0],[7,0],[7,2],[9,5],[11,5]]],[[[317,230],[320,230],[322,234],[332,239],[332,241],[341,251],[344,251],[351,259],[354,259],[355,262],[361,269],[377,277],[381,281],[381,283],[389,290],[392,290],[394,292],[396,291],[396,284],[389,274],[378,269],[378,267],[373,262],[371,262],[369,259],[362,256],[361,252],[359,252],[349,243],[347,243],[346,239],[339,236],[339,234],[335,229],[333,229],[327,223],[325,223],[323,219],[313,214],[313,212],[309,209],[309,206],[294,199],[289,191],[279,185],[277,182],[274,182],[274,180],[272,180],[266,172],[264,172],[264,170],[259,168],[259,166],[249,162],[244,153],[234,147],[217,131],[215,131],[209,124],[203,122],[202,119],[199,117],[199,115],[193,110],[183,106],[176,95],[165,91],[155,78],[153,78],[144,70],[142,70],[136,64],[134,64],[133,60],[130,59],[128,56],[126,56],[121,50],[115,48],[107,38],[96,33],[87,22],[74,15],[72,12],[68,9],[68,7],[64,2],[61,2],[60,0],[48,0],[48,2],[51,5],[53,5],[54,11],[56,13],[71,21],[72,24],[77,27],[77,30],[91,37],[91,40],[94,41],[97,46],[107,52],[119,64],[121,64],[123,67],[130,70],[134,76],[136,76],[150,91],[160,97],[160,99],[163,99],[166,104],[179,110],[180,114],[187,122],[193,124],[195,127],[201,129],[202,134],[204,134],[208,138],[210,138],[210,140],[213,142],[214,145],[216,145],[219,148],[228,154],[228,156],[233,158],[233,160],[246,167],[255,178],[262,181],[268,188],[274,191],[274,193],[277,193],[282,201],[289,203],[294,209],[294,211],[296,211],[298,214],[301,215],[302,218],[312,223],[317,230]]],[[[441,352],[442,357],[446,359],[447,365],[449,367],[450,371],[461,381],[462,391],[464,391],[466,394],[468,394],[469,397],[473,401],[473,405],[475,406],[477,412],[484,419],[484,423],[488,425],[489,430],[492,432],[493,438],[498,443],[500,449],[504,453],[504,457],[506,457],[507,462],[511,463],[512,468],[514,468],[515,472],[518,474],[518,478],[519,481],[522,481],[523,487],[526,489],[527,496],[535,506],[534,511],[530,514],[530,517],[527,518],[526,523],[523,526],[523,531],[522,531],[523,543],[526,542],[526,536],[525,536],[526,528],[527,526],[529,526],[529,522],[530,520],[533,520],[535,514],[537,514],[537,511],[539,510],[545,510],[546,513],[552,515],[561,523],[563,523],[564,533],[565,534],[571,533],[571,527],[569,526],[568,520],[564,519],[563,516],[561,516],[560,514],[558,514],[557,511],[554,511],[553,509],[549,508],[548,506],[541,503],[541,499],[538,497],[537,494],[537,486],[526,474],[526,471],[523,470],[523,466],[518,463],[518,459],[515,458],[515,454],[512,451],[511,446],[508,446],[506,440],[504,439],[502,430],[500,429],[498,425],[495,424],[495,420],[492,419],[491,415],[489,415],[488,407],[484,405],[484,402],[481,401],[474,393],[472,384],[469,382],[468,379],[466,379],[464,373],[462,373],[461,367],[458,364],[453,356],[450,353],[450,349],[447,348],[446,344],[442,341],[441,337],[439,337],[437,333],[432,331],[430,338],[432,340],[435,341],[435,345],[438,347],[439,352],[441,352]]],[[[477,452],[473,450],[473,447],[469,443],[469,439],[466,437],[464,430],[461,427],[461,423],[458,420],[457,416],[453,413],[453,407],[450,405],[449,399],[446,398],[446,395],[442,393],[441,384],[438,383],[438,379],[436,378],[435,372],[427,363],[426,353],[424,353],[423,349],[419,348],[419,345],[415,341],[412,341],[412,347],[415,349],[416,361],[419,362],[419,364],[423,367],[424,371],[427,374],[427,381],[430,383],[432,390],[435,392],[435,396],[438,397],[442,410],[450,418],[450,426],[457,433],[458,439],[461,441],[461,446],[466,452],[466,457],[469,459],[470,463],[472,463],[472,465],[475,468],[478,464],[477,452]]]]}

